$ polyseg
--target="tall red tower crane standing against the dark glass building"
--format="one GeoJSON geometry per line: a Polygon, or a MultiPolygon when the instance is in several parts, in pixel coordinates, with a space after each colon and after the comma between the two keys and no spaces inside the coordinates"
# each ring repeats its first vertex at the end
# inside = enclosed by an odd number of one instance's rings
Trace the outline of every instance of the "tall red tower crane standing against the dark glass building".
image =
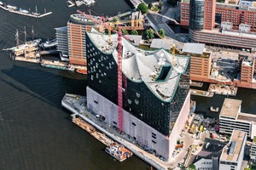
{"type": "MultiPolygon", "coordinates": [[[[129,37],[125,37],[125,35],[122,34],[121,29],[119,26],[117,26],[118,30],[114,30],[112,26],[109,26],[108,23],[106,23],[106,19],[102,16],[99,17],[101,20],[97,20],[95,17],[93,17],[91,14],[85,14],[84,12],[77,10],[79,14],[84,15],[90,20],[93,20],[96,22],[96,24],[104,26],[108,31],[113,31],[118,34],[118,111],[119,111],[119,133],[123,132],[123,81],[122,81],[122,38],[124,37],[127,40],[131,40],[129,37]]],[[[126,80],[126,79],[125,79],[126,80]]],[[[124,88],[126,90],[126,82],[124,82],[124,88]]]]}

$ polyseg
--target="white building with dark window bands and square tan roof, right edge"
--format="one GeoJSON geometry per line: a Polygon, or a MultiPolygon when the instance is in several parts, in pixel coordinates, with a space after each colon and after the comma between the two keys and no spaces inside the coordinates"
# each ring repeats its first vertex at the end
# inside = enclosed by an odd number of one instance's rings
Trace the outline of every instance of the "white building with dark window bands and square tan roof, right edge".
{"type": "Polygon", "coordinates": [[[219,114],[219,133],[231,134],[233,130],[247,133],[253,139],[256,136],[256,116],[241,113],[241,100],[224,99],[224,104],[219,114]]]}

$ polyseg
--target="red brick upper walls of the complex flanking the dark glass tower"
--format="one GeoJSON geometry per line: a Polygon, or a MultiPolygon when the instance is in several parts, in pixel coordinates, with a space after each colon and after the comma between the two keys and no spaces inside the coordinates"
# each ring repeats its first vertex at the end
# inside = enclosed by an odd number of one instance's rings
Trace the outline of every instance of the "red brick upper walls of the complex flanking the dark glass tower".
{"type": "MultiPolygon", "coordinates": [[[[220,17],[220,21],[230,21],[234,29],[238,29],[240,24],[251,26],[251,31],[256,31],[256,3],[245,3],[247,1],[226,1],[225,3],[216,3],[215,0],[205,1],[206,19],[204,29],[209,30],[211,25],[214,26],[215,15],[220,17]],[[235,4],[234,4],[235,3],[235,4]],[[214,5],[215,4],[215,5],[214,5]],[[211,19],[211,15],[214,18],[211,19]]],[[[181,3],[180,25],[189,26],[189,1],[181,3]]]]}

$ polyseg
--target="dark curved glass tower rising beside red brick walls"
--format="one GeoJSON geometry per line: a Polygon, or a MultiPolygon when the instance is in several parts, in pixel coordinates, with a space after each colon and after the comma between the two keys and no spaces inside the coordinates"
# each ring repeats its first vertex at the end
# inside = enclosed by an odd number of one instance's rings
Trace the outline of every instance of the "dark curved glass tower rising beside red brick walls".
{"type": "Polygon", "coordinates": [[[190,0],[189,28],[195,31],[203,30],[204,26],[204,0],[190,0]]]}

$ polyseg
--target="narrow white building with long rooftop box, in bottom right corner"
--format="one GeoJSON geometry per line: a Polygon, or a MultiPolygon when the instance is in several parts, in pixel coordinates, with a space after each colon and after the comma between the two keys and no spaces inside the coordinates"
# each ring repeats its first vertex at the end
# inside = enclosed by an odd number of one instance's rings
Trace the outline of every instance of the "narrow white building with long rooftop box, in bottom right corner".
{"type": "Polygon", "coordinates": [[[244,156],[247,133],[234,130],[219,159],[219,169],[240,170],[244,156]]]}

